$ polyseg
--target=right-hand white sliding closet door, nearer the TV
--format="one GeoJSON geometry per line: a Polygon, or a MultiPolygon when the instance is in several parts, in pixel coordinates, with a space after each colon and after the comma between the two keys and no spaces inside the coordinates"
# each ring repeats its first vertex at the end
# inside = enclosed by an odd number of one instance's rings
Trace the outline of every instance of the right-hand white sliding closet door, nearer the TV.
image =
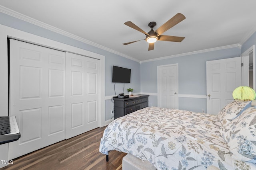
{"type": "Polygon", "coordinates": [[[66,53],[66,139],[99,127],[99,60],[66,53]]]}

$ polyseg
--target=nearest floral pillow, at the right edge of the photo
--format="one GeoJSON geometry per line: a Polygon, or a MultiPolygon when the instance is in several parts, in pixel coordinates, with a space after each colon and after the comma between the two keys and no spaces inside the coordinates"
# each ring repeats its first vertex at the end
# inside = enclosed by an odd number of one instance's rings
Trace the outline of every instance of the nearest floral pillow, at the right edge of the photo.
{"type": "Polygon", "coordinates": [[[256,109],[249,107],[224,128],[232,158],[254,162],[256,158],[256,109]]]}

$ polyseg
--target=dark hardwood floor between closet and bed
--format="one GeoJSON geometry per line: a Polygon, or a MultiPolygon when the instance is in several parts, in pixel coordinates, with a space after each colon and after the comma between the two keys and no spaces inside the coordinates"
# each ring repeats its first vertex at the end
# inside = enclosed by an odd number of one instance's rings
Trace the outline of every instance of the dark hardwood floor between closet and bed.
{"type": "Polygon", "coordinates": [[[16,158],[13,164],[1,170],[122,170],[122,158],[126,153],[113,150],[106,162],[106,155],[99,152],[105,128],[94,129],[16,158]]]}

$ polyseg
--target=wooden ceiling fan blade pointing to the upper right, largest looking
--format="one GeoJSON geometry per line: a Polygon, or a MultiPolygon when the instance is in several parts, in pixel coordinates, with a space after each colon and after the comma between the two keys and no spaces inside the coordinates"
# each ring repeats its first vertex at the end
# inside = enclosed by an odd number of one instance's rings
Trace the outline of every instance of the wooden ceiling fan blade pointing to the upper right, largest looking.
{"type": "Polygon", "coordinates": [[[172,17],[170,20],[168,20],[166,23],[161,25],[158,29],[156,29],[155,32],[158,33],[158,35],[161,35],[162,33],[167,31],[168,29],[170,29],[174,25],[183,21],[185,18],[186,17],[183,14],[178,13],[174,17],[172,17]]]}

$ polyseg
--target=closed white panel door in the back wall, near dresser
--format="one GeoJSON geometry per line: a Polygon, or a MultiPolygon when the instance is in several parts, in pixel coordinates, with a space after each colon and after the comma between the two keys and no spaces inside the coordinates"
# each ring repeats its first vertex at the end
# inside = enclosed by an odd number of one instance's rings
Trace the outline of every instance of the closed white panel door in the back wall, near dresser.
{"type": "Polygon", "coordinates": [[[178,64],[158,66],[158,107],[178,109],[178,64]]]}

